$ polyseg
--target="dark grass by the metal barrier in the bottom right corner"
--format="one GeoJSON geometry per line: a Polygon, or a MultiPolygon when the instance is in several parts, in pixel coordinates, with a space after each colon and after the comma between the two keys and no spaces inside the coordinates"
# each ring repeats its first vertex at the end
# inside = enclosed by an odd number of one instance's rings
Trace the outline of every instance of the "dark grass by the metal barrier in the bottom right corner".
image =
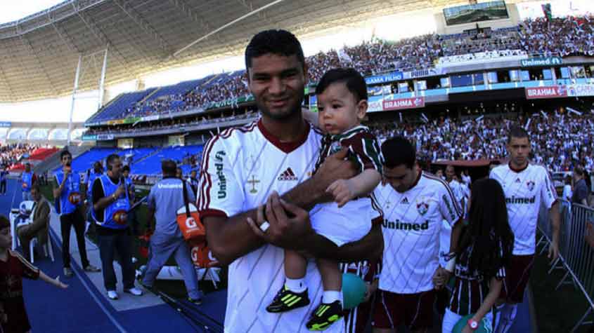
{"type": "MultiPolygon", "coordinates": [[[[534,294],[538,332],[571,332],[576,322],[586,312],[588,303],[581,290],[572,284],[562,285],[558,290],[555,290],[565,271],[555,269],[547,276],[549,269],[546,254],[537,255],[531,273],[530,285],[534,294]]],[[[594,320],[594,315],[590,314],[586,318],[586,321],[588,320],[594,320]]],[[[576,332],[592,333],[594,332],[594,326],[583,325],[576,332]]]]}

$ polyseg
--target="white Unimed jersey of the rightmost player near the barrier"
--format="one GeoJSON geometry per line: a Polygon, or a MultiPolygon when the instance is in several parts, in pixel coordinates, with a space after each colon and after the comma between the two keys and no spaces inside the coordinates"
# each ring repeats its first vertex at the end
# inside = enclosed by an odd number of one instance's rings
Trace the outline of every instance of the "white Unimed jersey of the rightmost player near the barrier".
{"type": "Polygon", "coordinates": [[[508,220],[515,238],[513,254],[534,254],[541,203],[545,208],[551,208],[557,200],[547,170],[541,165],[529,164],[517,172],[506,164],[493,168],[489,177],[496,179],[505,193],[508,220]]]}

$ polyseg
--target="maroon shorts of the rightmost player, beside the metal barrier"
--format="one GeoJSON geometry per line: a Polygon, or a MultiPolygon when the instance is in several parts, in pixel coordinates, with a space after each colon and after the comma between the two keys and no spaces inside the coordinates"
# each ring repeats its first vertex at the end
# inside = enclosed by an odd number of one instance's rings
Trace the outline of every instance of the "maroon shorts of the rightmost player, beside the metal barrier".
{"type": "Polygon", "coordinates": [[[510,267],[505,270],[505,280],[499,297],[509,303],[522,303],[533,264],[534,254],[512,255],[510,267]]]}

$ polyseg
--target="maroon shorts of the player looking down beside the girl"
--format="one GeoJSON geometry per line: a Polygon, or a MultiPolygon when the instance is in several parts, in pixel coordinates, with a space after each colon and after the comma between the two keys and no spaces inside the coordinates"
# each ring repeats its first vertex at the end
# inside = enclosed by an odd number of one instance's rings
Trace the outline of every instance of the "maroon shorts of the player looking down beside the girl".
{"type": "Polygon", "coordinates": [[[414,330],[433,326],[434,290],[418,294],[394,294],[384,290],[378,292],[373,327],[396,329],[404,324],[414,330]]]}

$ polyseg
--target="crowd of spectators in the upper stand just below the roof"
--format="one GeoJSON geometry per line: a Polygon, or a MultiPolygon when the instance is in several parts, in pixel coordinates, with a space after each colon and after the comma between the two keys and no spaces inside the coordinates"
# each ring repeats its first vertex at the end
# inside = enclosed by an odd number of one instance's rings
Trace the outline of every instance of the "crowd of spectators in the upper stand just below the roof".
{"type": "MultiPolygon", "coordinates": [[[[537,18],[517,27],[471,29],[461,34],[426,34],[399,41],[373,39],[356,46],[344,46],[307,57],[308,79],[317,82],[333,67],[354,67],[365,75],[391,70],[427,69],[437,63],[467,61],[512,55],[594,55],[594,17],[537,18]],[[440,61],[441,60],[441,61],[440,61]]],[[[122,118],[172,114],[188,109],[206,109],[213,102],[249,96],[245,72],[224,74],[217,84],[202,81],[185,94],[138,102],[122,118]]],[[[233,107],[233,105],[231,105],[233,107]]]]}

